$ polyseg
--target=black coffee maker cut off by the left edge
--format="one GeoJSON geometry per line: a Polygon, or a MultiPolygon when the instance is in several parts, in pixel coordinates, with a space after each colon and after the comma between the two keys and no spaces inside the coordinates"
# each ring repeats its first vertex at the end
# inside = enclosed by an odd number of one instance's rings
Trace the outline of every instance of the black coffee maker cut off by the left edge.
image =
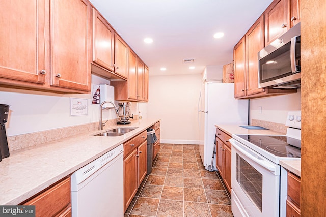
{"type": "Polygon", "coordinates": [[[9,105],[0,104],[0,161],[9,157],[5,124],[8,121],[9,105]]]}

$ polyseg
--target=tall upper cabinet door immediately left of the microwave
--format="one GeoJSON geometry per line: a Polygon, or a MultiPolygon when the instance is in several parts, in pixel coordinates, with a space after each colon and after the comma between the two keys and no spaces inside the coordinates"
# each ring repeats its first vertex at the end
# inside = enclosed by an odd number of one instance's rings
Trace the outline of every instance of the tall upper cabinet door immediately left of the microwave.
{"type": "Polygon", "coordinates": [[[247,95],[263,92],[258,88],[258,55],[264,48],[264,19],[261,16],[246,34],[247,95]]]}

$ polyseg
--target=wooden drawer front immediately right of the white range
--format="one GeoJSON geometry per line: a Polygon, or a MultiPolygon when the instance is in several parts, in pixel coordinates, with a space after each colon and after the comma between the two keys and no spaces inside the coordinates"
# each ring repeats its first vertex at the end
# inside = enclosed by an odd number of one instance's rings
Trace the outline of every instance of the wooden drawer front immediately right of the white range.
{"type": "Polygon", "coordinates": [[[300,178],[296,175],[287,173],[287,196],[300,208],[300,178]]]}

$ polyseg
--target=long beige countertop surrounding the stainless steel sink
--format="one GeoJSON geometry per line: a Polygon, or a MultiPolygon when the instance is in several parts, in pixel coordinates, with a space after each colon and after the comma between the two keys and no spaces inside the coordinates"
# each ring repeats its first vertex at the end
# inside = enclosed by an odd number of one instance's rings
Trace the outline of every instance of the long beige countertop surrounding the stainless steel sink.
{"type": "Polygon", "coordinates": [[[0,205],[17,205],[29,199],[157,121],[134,120],[130,125],[113,125],[11,152],[0,162],[0,205]],[[116,127],[138,128],[122,136],[93,136],[116,127]]]}

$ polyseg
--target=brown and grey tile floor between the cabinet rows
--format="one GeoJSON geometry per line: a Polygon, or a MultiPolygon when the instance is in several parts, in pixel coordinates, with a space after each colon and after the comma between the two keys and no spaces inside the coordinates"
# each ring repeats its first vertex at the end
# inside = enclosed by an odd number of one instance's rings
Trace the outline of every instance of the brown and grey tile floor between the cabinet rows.
{"type": "Polygon", "coordinates": [[[199,145],[161,144],[125,217],[233,216],[230,194],[217,172],[203,167],[199,145]]]}

